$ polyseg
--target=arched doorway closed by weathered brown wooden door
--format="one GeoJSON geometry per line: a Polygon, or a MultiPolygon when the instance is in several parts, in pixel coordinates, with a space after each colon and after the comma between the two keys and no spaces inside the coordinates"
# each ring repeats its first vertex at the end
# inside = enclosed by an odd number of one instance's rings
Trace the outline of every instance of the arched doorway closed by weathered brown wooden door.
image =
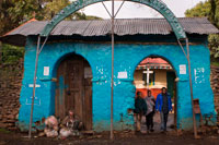
{"type": "Polygon", "coordinates": [[[71,109],[92,129],[92,70],[81,56],[69,55],[57,69],[55,116],[64,119],[71,109]]]}

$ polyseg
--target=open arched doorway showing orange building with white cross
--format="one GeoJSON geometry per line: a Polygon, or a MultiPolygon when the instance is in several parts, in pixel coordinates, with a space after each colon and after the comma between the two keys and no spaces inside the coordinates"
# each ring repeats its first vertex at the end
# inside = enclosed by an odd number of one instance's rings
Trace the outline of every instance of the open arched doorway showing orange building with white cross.
{"type": "MultiPolygon", "coordinates": [[[[172,64],[165,59],[157,56],[145,58],[136,68],[134,74],[134,84],[136,92],[141,92],[142,97],[148,96],[148,90],[151,90],[152,96],[161,93],[161,88],[165,87],[171,95],[173,111],[169,113],[168,130],[176,129],[177,117],[177,87],[176,87],[176,72],[172,64]]],[[[146,120],[142,120],[142,123],[146,120]]],[[[160,130],[160,116],[158,113],[153,117],[154,130],[160,130]]]]}

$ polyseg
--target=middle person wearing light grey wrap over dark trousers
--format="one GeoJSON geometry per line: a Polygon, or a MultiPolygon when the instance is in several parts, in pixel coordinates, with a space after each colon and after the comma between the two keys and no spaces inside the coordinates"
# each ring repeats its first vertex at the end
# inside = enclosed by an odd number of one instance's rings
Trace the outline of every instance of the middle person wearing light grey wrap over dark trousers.
{"type": "Polygon", "coordinates": [[[146,104],[148,107],[147,113],[146,113],[146,125],[148,132],[153,132],[153,114],[155,109],[155,99],[153,96],[151,96],[151,90],[148,90],[148,96],[146,97],[146,104]]]}

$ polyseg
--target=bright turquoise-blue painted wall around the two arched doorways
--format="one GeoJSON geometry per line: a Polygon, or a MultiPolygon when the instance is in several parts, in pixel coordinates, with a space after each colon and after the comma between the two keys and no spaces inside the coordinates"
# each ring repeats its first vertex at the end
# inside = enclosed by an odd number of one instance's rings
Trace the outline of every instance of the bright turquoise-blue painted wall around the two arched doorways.
{"type": "MultiPolygon", "coordinates": [[[[36,43],[27,39],[24,60],[24,78],[21,90],[19,125],[28,126],[31,96],[33,87],[36,43]]],[[[33,122],[54,114],[56,69],[66,55],[77,53],[84,57],[93,73],[93,129],[110,130],[111,118],[111,44],[49,43],[43,49],[37,71],[36,98],[33,122]],[[44,76],[44,67],[49,67],[49,76],[44,76]]],[[[149,56],[166,59],[175,69],[177,82],[177,128],[192,129],[192,105],[189,95],[188,70],[180,74],[180,65],[186,64],[183,51],[177,45],[115,44],[115,83],[114,83],[114,125],[116,130],[132,129],[134,119],[127,114],[134,108],[134,72],[140,61],[149,56]],[[117,78],[118,72],[127,72],[127,78],[117,78]],[[122,122],[123,114],[123,122],[122,122]]],[[[214,113],[214,95],[210,88],[209,50],[205,45],[191,46],[194,98],[199,98],[203,114],[214,113]]]]}

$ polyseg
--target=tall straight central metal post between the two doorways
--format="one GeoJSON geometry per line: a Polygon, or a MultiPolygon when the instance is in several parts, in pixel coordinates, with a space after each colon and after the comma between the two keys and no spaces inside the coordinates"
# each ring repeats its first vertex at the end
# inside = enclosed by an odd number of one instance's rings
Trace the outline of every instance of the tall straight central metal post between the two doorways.
{"type": "Polygon", "coordinates": [[[111,140],[113,134],[113,88],[114,88],[114,0],[112,0],[112,78],[111,78],[111,140]]]}

